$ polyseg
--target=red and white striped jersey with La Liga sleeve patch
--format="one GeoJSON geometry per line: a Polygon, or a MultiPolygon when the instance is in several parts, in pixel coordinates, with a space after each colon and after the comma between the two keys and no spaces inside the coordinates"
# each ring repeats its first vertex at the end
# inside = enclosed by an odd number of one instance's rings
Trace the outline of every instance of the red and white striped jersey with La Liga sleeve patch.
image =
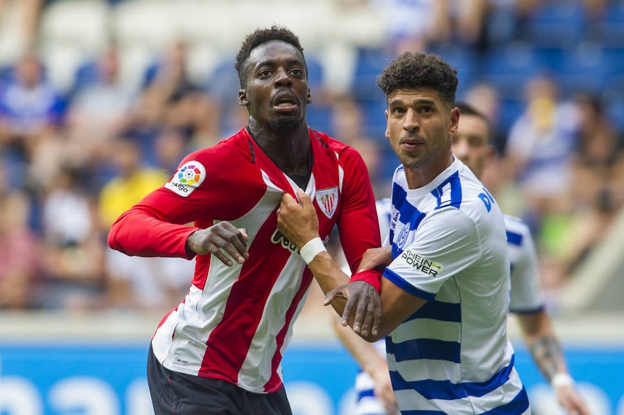
{"type": "MultiPolygon", "coordinates": [[[[366,166],[351,147],[310,130],[311,195],[320,237],[337,225],[355,270],[379,247],[379,224],[366,166]]],[[[196,256],[187,297],[162,319],[152,340],[164,367],[227,380],[253,392],[282,385],[281,357],[313,278],[297,249],[277,231],[276,211],[297,185],[270,161],[248,130],[182,160],[162,188],[123,213],[108,237],[128,255],[193,258],[196,229],[227,220],[249,235],[249,259],[223,265],[196,256]],[[193,227],[185,224],[194,222],[193,227]]]]}

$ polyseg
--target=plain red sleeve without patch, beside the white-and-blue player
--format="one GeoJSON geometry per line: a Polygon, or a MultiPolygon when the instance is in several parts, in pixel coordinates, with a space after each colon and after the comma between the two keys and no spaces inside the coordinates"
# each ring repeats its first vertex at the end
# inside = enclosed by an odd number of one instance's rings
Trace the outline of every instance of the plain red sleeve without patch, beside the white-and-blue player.
{"type": "MultiPolygon", "coordinates": [[[[364,252],[381,246],[379,220],[368,170],[360,154],[347,148],[340,154],[340,165],[345,176],[338,233],[347,263],[352,271],[356,271],[364,252]]],[[[381,274],[375,274],[375,278],[381,279],[381,274]]]]}

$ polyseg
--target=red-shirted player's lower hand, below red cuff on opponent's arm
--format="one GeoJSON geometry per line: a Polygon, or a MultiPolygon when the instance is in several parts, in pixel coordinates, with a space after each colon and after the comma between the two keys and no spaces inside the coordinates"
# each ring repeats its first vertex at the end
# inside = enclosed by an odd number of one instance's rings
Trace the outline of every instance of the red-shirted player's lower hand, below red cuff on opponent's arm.
{"type": "Polygon", "coordinates": [[[340,324],[347,326],[353,318],[352,328],[361,337],[366,339],[371,334],[379,334],[381,299],[372,285],[365,281],[339,285],[325,295],[324,305],[327,306],[336,299],[347,300],[340,324]]]}

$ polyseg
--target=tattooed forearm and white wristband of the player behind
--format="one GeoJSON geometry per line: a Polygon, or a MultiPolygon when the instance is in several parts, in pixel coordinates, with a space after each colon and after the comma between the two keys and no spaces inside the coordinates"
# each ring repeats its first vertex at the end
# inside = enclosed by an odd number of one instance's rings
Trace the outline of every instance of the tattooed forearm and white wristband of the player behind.
{"type": "Polygon", "coordinates": [[[569,414],[589,415],[589,409],[574,389],[562,348],[544,310],[517,314],[524,342],[539,371],[551,382],[557,401],[569,414]]]}

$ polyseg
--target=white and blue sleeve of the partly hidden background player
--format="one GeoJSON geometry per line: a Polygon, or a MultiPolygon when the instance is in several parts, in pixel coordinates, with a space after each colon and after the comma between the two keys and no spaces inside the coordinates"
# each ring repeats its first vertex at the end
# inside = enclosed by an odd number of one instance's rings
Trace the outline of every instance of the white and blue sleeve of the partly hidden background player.
{"type": "MultiPolygon", "coordinates": [[[[506,224],[508,220],[505,219],[506,224]]],[[[507,229],[507,244],[511,263],[511,312],[537,312],[544,308],[539,290],[537,251],[528,227],[507,229]]]]}

